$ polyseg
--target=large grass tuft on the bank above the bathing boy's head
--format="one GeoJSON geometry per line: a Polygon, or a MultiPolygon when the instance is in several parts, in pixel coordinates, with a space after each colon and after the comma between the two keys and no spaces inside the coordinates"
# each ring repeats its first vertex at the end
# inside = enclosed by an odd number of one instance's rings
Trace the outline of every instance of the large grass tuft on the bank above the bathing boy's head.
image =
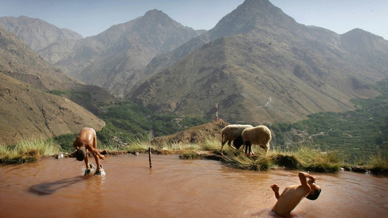
{"type": "Polygon", "coordinates": [[[295,153],[301,160],[301,168],[313,172],[339,171],[344,159],[337,151],[324,152],[312,144],[299,144],[295,153]]]}

